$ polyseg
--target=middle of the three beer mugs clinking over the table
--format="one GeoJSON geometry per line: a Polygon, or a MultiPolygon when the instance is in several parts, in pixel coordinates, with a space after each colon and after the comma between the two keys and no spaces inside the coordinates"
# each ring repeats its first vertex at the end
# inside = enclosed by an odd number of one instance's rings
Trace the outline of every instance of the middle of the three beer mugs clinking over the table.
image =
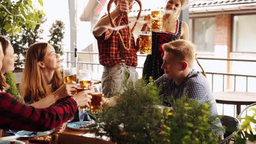
{"type": "MultiPolygon", "coordinates": [[[[91,71],[90,70],[79,70],[79,82],[77,87],[77,92],[82,92],[84,90],[91,89],[91,71]]],[[[80,106],[78,107],[79,111],[89,111],[90,107],[80,106]]],[[[80,117],[80,116],[79,116],[80,117]]]]}

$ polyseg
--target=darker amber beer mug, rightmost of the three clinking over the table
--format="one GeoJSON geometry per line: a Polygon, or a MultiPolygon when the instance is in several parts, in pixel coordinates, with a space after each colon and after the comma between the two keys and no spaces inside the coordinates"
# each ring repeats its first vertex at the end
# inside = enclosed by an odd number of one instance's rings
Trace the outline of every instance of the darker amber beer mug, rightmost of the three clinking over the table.
{"type": "Polygon", "coordinates": [[[101,85],[96,86],[96,91],[94,93],[90,93],[92,96],[91,99],[91,113],[99,113],[101,110],[101,99],[102,99],[102,89],[101,85]]]}

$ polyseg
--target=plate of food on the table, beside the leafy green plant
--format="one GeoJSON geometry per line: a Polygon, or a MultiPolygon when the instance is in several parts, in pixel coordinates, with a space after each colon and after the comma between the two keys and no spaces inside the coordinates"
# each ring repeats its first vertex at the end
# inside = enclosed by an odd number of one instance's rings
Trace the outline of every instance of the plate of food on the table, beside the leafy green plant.
{"type": "Polygon", "coordinates": [[[68,128],[75,129],[75,130],[90,130],[92,128],[97,128],[98,123],[95,122],[70,122],[67,124],[68,128]]]}

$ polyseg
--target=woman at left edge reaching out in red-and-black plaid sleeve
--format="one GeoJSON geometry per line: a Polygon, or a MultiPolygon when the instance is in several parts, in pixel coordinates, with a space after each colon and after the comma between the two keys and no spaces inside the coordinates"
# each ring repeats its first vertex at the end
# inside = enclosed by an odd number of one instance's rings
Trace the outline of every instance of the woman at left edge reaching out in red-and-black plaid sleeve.
{"type": "MultiPolygon", "coordinates": [[[[5,92],[8,85],[3,74],[7,70],[13,69],[16,58],[13,47],[2,35],[0,35],[0,42],[0,128],[30,131],[50,130],[71,119],[78,106],[89,106],[91,95],[86,92],[74,94],[65,101],[44,109],[21,104],[20,101],[5,92]]],[[[42,101],[44,100],[42,99],[42,101]]]]}

